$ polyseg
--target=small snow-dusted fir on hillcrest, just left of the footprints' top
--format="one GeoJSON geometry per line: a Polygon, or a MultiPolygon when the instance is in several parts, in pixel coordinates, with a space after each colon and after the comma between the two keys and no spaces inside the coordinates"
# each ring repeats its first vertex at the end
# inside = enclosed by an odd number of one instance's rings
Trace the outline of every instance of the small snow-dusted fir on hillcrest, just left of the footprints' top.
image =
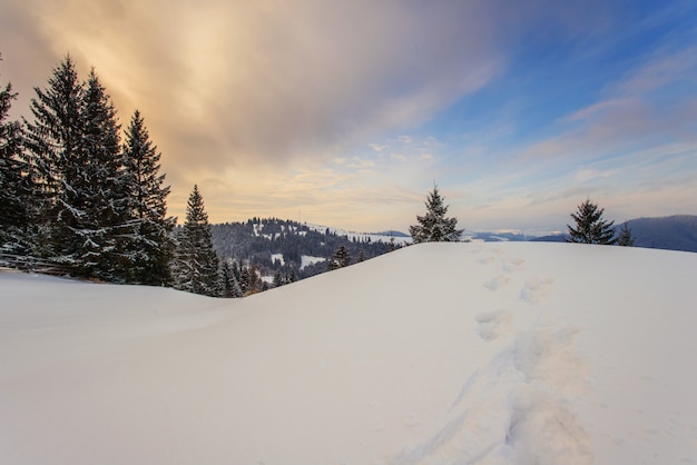
{"type": "Polygon", "coordinates": [[[460,240],[462,229],[458,229],[458,218],[446,218],[448,206],[438,191],[438,186],[433,186],[433,190],[429,192],[425,202],[426,214],[416,216],[419,225],[409,227],[409,233],[414,240],[419,243],[457,243],[460,240]]]}

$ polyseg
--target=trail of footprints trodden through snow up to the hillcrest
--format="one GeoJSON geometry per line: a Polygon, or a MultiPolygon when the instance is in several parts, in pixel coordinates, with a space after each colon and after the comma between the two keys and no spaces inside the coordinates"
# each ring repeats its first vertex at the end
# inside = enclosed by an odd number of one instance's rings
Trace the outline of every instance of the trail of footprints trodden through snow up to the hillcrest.
{"type": "Polygon", "coordinates": [[[578,332],[544,325],[538,307],[551,294],[553,279],[526,273],[524,259],[505,257],[500,249],[477,260],[489,274],[483,287],[510,298],[507,308],[483,310],[473,321],[482,342],[501,349],[463,384],[450,422],[392,463],[440,464],[449,457],[467,464],[591,464],[590,438],[573,410],[588,377],[586,362],[573,349],[578,332]]]}

